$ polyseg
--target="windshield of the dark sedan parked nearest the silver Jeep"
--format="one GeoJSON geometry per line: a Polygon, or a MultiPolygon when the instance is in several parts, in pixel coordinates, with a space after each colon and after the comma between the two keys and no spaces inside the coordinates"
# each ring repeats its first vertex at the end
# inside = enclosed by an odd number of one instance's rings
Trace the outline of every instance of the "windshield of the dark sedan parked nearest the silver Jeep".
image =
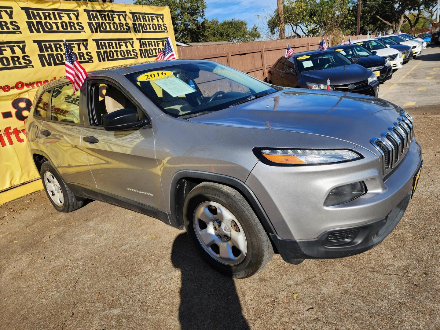
{"type": "Polygon", "coordinates": [[[337,51],[324,51],[302,56],[301,54],[297,54],[295,59],[300,72],[322,70],[333,68],[335,66],[353,64],[352,61],[347,59],[344,55],[339,54],[337,51]]]}

